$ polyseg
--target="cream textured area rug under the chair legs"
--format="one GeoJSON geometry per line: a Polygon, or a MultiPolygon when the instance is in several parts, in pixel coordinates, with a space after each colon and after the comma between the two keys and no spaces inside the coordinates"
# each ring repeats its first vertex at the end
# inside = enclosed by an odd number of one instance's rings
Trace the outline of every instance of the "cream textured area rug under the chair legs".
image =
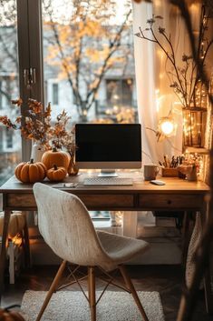
{"type": "MultiPolygon", "coordinates": [[[[26,320],[34,321],[46,292],[26,291],[22,311],[26,320]]],[[[96,292],[98,298],[100,292],[96,292]]],[[[164,321],[158,292],[138,292],[150,321],[164,321]]],[[[140,312],[129,293],[106,291],[97,305],[97,321],[141,321],[140,312]]],[[[42,321],[90,321],[90,311],[81,291],[59,291],[53,294],[42,321]]]]}

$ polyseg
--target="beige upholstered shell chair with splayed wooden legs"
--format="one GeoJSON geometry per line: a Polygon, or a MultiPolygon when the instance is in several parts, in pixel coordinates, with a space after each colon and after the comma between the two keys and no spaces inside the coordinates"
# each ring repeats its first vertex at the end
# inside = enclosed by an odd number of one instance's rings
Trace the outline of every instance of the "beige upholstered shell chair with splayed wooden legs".
{"type": "Polygon", "coordinates": [[[107,276],[109,276],[108,272],[119,268],[125,285],[122,288],[131,293],[143,320],[148,321],[124,266],[125,262],[133,256],[144,252],[149,247],[148,244],[130,237],[116,236],[103,231],[96,232],[87,208],[77,196],[41,183],[34,184],[34,196],[38,207],[40,233],[53,252],[63,259],[36,321],[43,316],[53,292],[59,285],[67,262],[77,266],[87,266],[88,302],[92,321],[96,320],[95,271],[97,267],[107,276]]]}

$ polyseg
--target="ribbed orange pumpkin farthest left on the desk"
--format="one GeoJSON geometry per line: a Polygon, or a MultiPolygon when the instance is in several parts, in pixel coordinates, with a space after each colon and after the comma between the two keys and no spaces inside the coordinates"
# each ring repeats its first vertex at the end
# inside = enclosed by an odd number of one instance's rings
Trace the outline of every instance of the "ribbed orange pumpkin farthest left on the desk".
{"type": "Polygon", "coordinates": [[[46,176],[46,167],[42,162],[34,163],[34,159],[31,159],[15,167],[15,176],[23,183],[41,182],[46,176]]]}

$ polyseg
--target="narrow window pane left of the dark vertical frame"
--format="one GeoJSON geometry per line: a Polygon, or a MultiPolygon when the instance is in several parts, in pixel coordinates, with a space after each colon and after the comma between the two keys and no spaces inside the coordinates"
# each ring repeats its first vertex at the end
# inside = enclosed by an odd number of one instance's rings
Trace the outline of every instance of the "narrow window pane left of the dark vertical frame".
{"type": "MultiPolygon", "coordinates": [[[[16,2],[0,2],[0,115],[15,122],[19,107],[11,104],[18,97],[18,61],[16,2]]],[[[19,130],[7,129],[0,124],[0,185],[14,174],[21,161],[21,135],[19,130]]]]}

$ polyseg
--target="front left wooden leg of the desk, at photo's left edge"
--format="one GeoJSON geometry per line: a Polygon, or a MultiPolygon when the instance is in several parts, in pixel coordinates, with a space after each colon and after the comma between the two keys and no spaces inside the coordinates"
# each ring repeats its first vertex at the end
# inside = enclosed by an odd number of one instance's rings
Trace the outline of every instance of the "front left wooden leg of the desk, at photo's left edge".
{"type": "Polygon", "coordinates": [[[4,274],[5,274],[5,258],[6,258],[6,242],[8,236],[8,226],[10,221],[11,212],[5,210],[3,235],[2,235],[2,248],[0,255],[0,301],[4,291],[4,274]]]}

